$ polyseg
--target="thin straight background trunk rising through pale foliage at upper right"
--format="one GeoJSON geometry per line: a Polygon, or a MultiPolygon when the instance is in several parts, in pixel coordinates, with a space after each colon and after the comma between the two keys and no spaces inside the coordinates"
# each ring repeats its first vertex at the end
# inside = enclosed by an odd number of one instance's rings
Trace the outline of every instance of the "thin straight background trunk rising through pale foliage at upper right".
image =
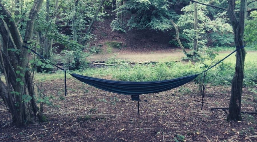
{"type": "Polygon", "coordinates": [[[198,32],[197,32],[197,3],[194,3],[194,32],[195,32],[195,36],[194,36],[194,55],[196,54],[197,50],[198,50],[198,32]]]}

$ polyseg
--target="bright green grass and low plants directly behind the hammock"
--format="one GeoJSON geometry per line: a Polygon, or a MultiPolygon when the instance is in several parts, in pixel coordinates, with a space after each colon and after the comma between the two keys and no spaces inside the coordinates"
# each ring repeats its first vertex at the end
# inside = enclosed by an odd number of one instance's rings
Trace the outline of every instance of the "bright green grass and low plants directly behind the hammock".
{"type": "MultiPolygon", "coordinates": [[[[216,57],[220,60],[228,55],[228,52],[221,52],[216,57]]],[[[117,62],[117,59],[109,59],[110,62],[117,62]]],[[[208,63],[208,61],[207,61],[208,63]]],[[[248,51],[245,60],[245,79],[244,85],[256,82],[257,80],[257,58],[256,52],[248,51]]],[[[111,78],[113,80],[124,81],[154,81],[177,78],[181,76],[197,74],[202,72],[202,64],[192,62],[160,62],[158,64],[148,65],[121,65],[108,66],[101,68],[87,68],[85,70],[74,71],[74,73],[83,74],[85,76],[92,76],[98,78],[111,78]]],[[[231,55],[222,63],[208,71],[206,81],[213,85],[230,85],[234,76],[235,56],[231,55]]],[[[63,72],[56,72],[54,74],[37,73],[35,75],[36,81],[43,82],[45,80],[55,80],[64,78],[63,72]]],[[[71,76],[67,75],[67,78],[71,76]]]]}

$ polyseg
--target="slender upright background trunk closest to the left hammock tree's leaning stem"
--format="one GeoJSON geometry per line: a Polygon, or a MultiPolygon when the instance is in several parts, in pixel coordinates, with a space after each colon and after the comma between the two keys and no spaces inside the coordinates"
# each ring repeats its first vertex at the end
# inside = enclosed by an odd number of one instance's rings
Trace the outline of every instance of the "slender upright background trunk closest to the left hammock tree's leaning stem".
{"type": "MultiPolygon", "coordinates": [[[[49,22],[49,5],[50,5],[50,1],[47,0],[46,5],[45,5],[45,12],[46,12],[45,21],[47,23],[49,22]]],[[[45,29],[45,32],[47,33],[47,29],[45,29]]],[[[48,47],[48,35],[47,34],[45,35],[45,41],[44,41],[44,57],[45,58],[50,57],[49,47],[48,47]]]]}

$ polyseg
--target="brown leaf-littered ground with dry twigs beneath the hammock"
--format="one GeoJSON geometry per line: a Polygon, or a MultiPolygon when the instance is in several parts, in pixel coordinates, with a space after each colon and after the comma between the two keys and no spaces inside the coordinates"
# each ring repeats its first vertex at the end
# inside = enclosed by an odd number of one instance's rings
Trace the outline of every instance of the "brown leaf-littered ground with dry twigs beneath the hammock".
{"type": "MultiPolygon", "coordinates": [[[[0,100],[0,141],[257,141],[257,116],[242,114],[243,121],[227,122],[230,87],[206,86],[204,105],[193,82],[137,102],[91,87],[75,79],[48,80],[42,90],[53,106],[45,106],[44,122],[17,128],[0,100]]],[[[242,110],[253,111],[252,93],[243,88],[242,110]]]]}

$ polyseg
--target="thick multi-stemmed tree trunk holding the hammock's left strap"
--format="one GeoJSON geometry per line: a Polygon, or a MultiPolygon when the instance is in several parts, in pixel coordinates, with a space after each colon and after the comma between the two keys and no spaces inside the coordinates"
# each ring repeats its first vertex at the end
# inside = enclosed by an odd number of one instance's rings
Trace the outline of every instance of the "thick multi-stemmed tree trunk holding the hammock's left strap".
{"type": "MultiPolygon", "coordinates": [[[[27,21],[24,41],[29,41],[32,37],[34,22],[42,3],[43,0],[34,1],[29,13],[28,18],[31,20],[27,21]]],[[[23,43],[15,20],[2,4],[0,4],[0,13],[5,15],[3,19],[0,19],[2,22],[0,27],[3,43],[7,43],[1,47],[0,52],[0,65],[4,70],[6,82],[5,85],[0,80],[0,96],[4,100],[7,110],[11,112],[13,122],[17,126],[24,126],[26,123],[35,122],[37,118],[41,117],[37,115],[38,107],[34,98],[36,94],[32,89],[33,78],[27,70],[28,50],[22,47],[23,45],[28,46],[29,44],[23,43]],[[4,23],[8,26],[5,27],[4,23]],[[10,35],[8,36],[6,33],[9,26],[11,28],[8,29],[10,31],[10,35]],[[7,48],[18,49],[20,53],[8,51],[7,48]],[[32,99],[25,101],[27,97],[31,97],[32,99]]]]}

